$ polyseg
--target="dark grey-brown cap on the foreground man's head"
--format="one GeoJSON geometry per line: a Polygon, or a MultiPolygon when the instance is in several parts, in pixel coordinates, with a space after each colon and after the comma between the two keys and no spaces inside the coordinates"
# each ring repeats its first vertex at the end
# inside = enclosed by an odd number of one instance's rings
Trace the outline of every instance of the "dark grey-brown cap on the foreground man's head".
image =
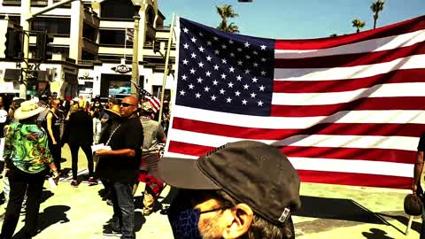
{"type": "Polygon", "coordinates": [[[165,157],[158,173],[176,188],[224,190],[278,226],[301,206],[297,171],[280,150],[266,143],[227,143],[197,160],[165,157]]]}

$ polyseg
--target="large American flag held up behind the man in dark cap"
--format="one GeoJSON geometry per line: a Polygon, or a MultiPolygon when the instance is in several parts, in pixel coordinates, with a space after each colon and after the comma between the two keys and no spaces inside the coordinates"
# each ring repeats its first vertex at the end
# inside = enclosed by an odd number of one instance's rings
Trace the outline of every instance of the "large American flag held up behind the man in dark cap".
{"type": "Polygon", "coordinates": [[[182,18],[179,29],[166,156],[249,139],[282,150],[301,181],[410,188],[425,129],[425,16],[312,40],[182,18]]]}

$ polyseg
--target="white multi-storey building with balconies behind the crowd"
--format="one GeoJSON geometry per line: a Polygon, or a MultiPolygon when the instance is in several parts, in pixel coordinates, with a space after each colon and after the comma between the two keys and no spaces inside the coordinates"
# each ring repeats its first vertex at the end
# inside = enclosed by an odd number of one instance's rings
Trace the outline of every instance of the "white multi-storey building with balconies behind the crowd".
{"type": "MultiPolygon", "coordinates": [[[[59,0],[31,0],[31,12],[55,4],[59,0]]],[[[4,42],[7,27],[19,26],[20,0],[0,0],[0,91],[19,92],[22,60],[7,60],[4,42]]],[[[139,11],[139,83],[148,92],[160,92],[165,60],[154,54],[153,41],[161,42],[165,55],[170,27],[158,10],[158,0],[146,0],[139,11]]],[[[73,1],[35,17],[32,31],[47,30],[54,36],[54,54],[39,66],[38,77],[28,80],[27,95],[41,94],[46,86],[61,97],[117,97],[129,94],[133,42],[126,40],[126,31],[134,28],[135,8],[131,0],[73,1]]],[[[35,55],[35,36],[30,38],[29,55],[35,55]]],[[[174,67],[175,42],[170,53],[174,67]]],[[[35,67],[35,60],[29,60],[35,67]]],[[[169,98],[173,75],[166,80],[165,98],[169,98]]],[[[0,92],[1,93],[1,92],[0,92]]]]}

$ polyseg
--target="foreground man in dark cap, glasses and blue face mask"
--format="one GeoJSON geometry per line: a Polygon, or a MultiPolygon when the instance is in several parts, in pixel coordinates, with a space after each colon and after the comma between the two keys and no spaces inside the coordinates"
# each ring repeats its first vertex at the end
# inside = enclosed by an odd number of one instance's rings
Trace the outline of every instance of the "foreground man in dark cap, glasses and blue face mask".
{"type": "Polygon", "coordinates": [[[197,160],[162,158],[158,172],[178,188],[168,210],[174,238],[294,238],[299,177],[265,143],[227,143],[197,160]]]}

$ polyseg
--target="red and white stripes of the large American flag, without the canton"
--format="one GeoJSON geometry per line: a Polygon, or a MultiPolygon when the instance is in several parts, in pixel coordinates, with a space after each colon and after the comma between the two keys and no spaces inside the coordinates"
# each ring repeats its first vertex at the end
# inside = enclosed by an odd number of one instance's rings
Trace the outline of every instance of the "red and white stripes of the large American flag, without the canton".
{"type": "Polygon", "coordinates": [[[279,147],[302,181],[408,189],[425,130],[424,53],[425,16],[276,41],[271,116],[174,105],[166,156],[251,139],[279,147]]]}

